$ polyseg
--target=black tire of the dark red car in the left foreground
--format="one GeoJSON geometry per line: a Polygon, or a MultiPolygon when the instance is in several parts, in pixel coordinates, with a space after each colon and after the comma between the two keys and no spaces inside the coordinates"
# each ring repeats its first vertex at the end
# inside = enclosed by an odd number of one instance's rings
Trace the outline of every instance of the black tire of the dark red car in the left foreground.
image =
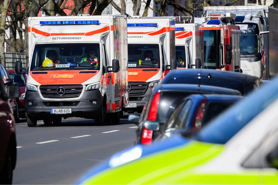
{"type": "Polygon", "coordinates": [[[13,161],[11,147],[8,148],[5,158],[3,171],[0,173],[0,184],[12,184],[13,180],[13,161]]]}

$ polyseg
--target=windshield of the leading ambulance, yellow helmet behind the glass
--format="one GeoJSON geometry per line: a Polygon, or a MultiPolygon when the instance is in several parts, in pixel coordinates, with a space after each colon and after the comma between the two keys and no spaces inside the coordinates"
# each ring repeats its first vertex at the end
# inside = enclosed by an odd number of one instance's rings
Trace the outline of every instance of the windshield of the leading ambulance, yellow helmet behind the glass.
{"type": "Polygon", "coordinates": [[[99,70],[99,48],[99,43],[36,44],[30,70],[99,70]]]}

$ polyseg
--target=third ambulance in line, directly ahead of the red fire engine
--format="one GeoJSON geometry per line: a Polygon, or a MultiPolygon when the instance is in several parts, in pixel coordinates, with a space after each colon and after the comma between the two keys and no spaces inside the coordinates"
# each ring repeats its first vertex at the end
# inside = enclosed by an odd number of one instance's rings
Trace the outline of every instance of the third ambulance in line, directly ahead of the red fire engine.
{"type": "Polygon", "coordinates": [[[191,23],[191,16],[175,17],[175,44],[177,67],[201,68],[203,56],[203,24],[191,23]]]}

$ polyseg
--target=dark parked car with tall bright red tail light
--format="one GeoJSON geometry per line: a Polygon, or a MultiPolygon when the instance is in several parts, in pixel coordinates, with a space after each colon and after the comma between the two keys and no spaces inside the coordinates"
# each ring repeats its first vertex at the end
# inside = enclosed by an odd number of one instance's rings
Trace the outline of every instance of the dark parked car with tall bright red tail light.
{"type": "MultiPolygon", "coordinates": [[[[179,69],[180,70],[180,69],[179,69]]],[[[153,88],[148,103],[140,115],[129,115],[128,120],[138,125],[135,144],[151,144],[162,132],[170,114],[184,97],[191,94],[229,94],[241,95],[238,90],[210,85],[198,84],[160,84],[153,88]],[[159,128],[153,127],[150,122],[159,123],[159,128]],[[147,123],[147,124],[146,124],[147,123]]]]}

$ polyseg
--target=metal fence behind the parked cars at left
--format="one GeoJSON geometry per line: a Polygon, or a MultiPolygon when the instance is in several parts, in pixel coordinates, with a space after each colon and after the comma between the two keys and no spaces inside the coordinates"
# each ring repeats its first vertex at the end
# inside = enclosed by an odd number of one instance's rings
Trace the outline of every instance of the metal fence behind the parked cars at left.
{"type": "Polygon", "coordinates": [[[14,69],[15,62],[18,60],[22,61],[22,67],[26,65],[26,54],[25,53],[5,53],[5,67],[6,69],[14,69]]]}

